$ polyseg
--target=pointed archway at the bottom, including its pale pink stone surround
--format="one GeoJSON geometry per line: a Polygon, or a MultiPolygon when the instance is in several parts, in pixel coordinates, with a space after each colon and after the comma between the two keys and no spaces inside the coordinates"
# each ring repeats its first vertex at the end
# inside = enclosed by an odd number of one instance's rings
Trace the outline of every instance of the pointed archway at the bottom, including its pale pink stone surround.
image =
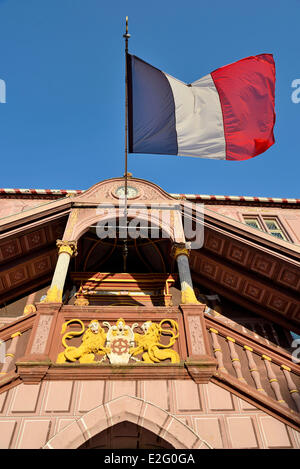
{"type": "MultiPolygon", "coordinates": [[[[167,449],[212,448],[192,428],[169,412],[149,401],[127,395],[113,399],[90,410],[79,420],[72,422],[56,433],[45,444],[44,448],[84,448],[88,441],[90,442],[88,443],[88,448],[91,448],[91,444],[95,444],[92,448],[96,448],[98,447],[96,444],[99,444],[98,436],[99,439],[101,438],[100,443],[103,441],[102,436],[106,436],[105,444],[107,445],[109,434],[117,437],[115,441],[118,440],[118,448],[121,448],[122,435],[125,436],[126,434],[127,436],[134,437],[132,439],[133,443],[135,441],[134,444],[137,444],[137,435],[140,435],[138,438],[139,445],[145,443],[149,445],[149,449],[157,447],[167,449]],[[118,427],[122,423],[126,423],[126,425],[118,427]],[[128,426],[129,424],[132,424],[132,426],[128,426]],[[105,433],[106,431],[107,433],[105,433]],[[162,438],[157,439],[158,435],[162,435],[162,438]],[[93,440],[94,437],[97,437],[95,441],[93,440]]],[[[109,444],[113,441],[114,438],[111,439],[110,437],[109,444]]],[[[130,442],[125,442],[124,439],[123,444],[128,445],[130,442]]],[[[142,446],[139,447],[142,448],[142,446]]],[[[110,448],[110,446],[106,446],[106,448],[110,448]]],[[[136,448],[136,446],[130,448],[136,448]]]]}

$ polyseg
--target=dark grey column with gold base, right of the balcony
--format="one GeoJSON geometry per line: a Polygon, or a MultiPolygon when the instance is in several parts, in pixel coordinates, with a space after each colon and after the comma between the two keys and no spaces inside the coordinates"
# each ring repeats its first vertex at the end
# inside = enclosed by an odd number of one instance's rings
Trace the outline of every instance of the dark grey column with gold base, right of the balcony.
{"type": "Polygon", "coordinates": [[[198,304],[190,272],[189,254],[190,251],[185,244],[175,244],[173,246],[173,257],[177,261],[180,286],[181,304],[198,304]]]}

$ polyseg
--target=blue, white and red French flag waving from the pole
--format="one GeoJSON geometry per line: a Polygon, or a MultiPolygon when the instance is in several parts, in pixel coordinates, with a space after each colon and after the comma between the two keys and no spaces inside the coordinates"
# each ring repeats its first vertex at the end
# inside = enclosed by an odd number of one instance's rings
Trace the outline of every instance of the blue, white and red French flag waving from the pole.
{"type": "Polygon", "coordinates": [[[239,60],[186,84],[127,55],[129,152],[246,160],[274,143],[275,63],[239,60]]]}

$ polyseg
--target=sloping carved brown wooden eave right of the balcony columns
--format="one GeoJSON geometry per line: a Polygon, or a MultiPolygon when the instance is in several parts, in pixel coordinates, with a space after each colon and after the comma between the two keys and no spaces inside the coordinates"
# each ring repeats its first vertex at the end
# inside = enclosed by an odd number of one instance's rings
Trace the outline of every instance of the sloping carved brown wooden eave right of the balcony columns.
{"type": "Polygon", "coordinates": [[[204,245],[192,250],[193,279],[300,332],[300,246],[205,210],[204,245]]]}

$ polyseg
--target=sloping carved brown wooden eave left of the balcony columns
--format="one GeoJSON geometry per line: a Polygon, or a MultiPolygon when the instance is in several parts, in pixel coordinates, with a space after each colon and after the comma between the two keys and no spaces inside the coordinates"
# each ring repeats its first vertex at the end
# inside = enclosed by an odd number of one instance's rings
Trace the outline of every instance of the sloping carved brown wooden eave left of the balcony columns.
{"type": "Polygon", "coordinates": [[[51,282],[69,201],[54,201],[0,220],[0,304],[51,282]]]}

